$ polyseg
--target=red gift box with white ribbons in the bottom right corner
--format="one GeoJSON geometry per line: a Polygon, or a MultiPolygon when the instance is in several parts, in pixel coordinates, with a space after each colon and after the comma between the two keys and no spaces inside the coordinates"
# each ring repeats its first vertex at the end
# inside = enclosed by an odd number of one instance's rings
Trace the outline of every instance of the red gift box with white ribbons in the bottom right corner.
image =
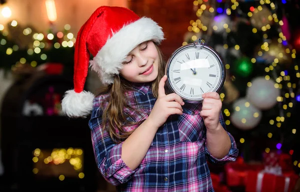
{"type": "Polygon", "coordinates": [[[293,191],[298,175],[293,172],[283,175],[263,171],[248,171],[246,192],[290,192],[293,191]]]}

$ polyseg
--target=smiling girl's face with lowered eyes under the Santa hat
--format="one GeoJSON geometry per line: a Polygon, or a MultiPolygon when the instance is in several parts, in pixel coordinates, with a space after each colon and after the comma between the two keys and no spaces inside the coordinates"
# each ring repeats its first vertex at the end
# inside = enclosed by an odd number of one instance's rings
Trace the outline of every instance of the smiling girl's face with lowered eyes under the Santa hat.
{"type": "Polygon", "coordinates": [[[131,50],[120,74],[131,82],[150,82],[158,75],[159,56],[152,41],[145,41],[131,50]]]}

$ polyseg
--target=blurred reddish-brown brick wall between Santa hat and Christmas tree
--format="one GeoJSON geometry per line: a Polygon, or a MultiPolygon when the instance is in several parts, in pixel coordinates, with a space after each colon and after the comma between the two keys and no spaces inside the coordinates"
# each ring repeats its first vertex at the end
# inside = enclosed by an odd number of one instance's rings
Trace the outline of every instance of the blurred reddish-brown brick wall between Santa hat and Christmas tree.
{"type": "Polygon", "coordinates": [[[182,45],[190,20],[196,20],[193,0],[128,0],[128,7],[139,16],[156,21],[165,33],[161,50],[166,58],[182,45]]]}

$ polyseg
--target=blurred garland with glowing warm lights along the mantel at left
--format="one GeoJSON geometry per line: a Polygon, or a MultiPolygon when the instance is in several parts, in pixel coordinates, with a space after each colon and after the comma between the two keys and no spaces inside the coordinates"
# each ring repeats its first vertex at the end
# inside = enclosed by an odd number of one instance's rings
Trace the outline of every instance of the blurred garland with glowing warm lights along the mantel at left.
{"type": "Polygon", "coordinates": [[[0,68],[30,70],[43,63],[61,63],[64,73],[72,74],[74,35],[65,24],[61,31],[38,32],[32,26],[21,26],[16,20],[0,24],[0,68]]]}

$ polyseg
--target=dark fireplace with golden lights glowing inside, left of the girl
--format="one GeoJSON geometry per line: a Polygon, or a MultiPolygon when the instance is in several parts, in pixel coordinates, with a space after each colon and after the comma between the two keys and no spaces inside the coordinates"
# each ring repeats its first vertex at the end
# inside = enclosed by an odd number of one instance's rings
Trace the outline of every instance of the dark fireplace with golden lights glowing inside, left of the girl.
{"type": "Polygon", "coordinates": [[[96,190],[89,118],[61,115],[60,100],[71,88],[61,75],[40,75],[19,79],[8,89],[1,108],[7,191],[96,190]]]}

